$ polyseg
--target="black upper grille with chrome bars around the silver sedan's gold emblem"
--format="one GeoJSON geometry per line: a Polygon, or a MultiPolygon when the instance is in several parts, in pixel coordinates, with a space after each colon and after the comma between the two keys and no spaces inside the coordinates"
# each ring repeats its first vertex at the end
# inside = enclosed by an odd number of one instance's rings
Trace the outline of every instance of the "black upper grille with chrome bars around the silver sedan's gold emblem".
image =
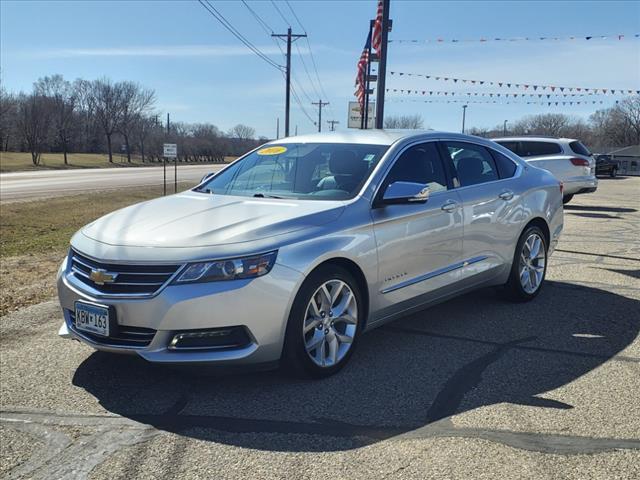
{"type": "Polygon", "coordinates": [[[103,295],[153,295],[180,268],[180,265],[102,263],[75,250],[71,251],[71,273],[80,282],[103,295]],[[115,280],[102,285],[91,279],[92,270],[115,274],[115,280]]]}

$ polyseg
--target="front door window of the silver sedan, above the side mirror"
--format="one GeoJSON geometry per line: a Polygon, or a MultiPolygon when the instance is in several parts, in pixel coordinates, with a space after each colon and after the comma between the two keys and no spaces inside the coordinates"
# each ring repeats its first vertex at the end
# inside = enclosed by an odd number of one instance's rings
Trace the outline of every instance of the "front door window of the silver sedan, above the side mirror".
{"type": "Polygon", "coordinates": [[[423,143],[405,150],[391,167],[384,188],[393,182],[427,184],[431,192],[446,190],[447,177],[436,143],[423,143]]]}

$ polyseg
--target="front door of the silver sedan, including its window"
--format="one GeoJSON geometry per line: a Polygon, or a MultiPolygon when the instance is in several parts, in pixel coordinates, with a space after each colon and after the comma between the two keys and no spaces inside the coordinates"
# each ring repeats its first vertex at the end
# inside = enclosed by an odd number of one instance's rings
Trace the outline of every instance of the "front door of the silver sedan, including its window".
{"type": "Polygon", "coordinates": [[[463,213],[436,142],[405,149],[378,191],[371,211],[378,250],[379,315],[373,322],[455,290],[462,256],[463,213]],[[394,182],[429,186],[426,202],[385,204],[394,182]]]}

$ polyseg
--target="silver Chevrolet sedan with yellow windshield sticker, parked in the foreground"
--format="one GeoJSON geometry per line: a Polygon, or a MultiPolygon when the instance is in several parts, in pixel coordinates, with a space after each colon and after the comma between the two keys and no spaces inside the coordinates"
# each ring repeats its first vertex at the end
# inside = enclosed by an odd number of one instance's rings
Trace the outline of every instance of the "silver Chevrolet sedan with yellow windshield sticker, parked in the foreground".
{"type": "Polygon", "coordinates": [[[78,231],[59,333],[150,362],[322,377],[415,309],[486,286],[533,299],[562,225],[559,182],[491,141],[287,138],[78,231]]]}

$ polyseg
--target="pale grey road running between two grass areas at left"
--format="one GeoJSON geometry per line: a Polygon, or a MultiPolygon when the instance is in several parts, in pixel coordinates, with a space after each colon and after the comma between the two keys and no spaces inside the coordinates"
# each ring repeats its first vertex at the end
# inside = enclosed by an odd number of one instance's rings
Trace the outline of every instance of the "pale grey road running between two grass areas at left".
{"type": "MultiPolygon", "coordinates": [[[[178,165],[178,181],[196,182],[222,165],[178,165]]],[[[174,170],[167,166],[167,182],[172,185],[174,170]]],[[[15,201],[73,195],[94,190],[162,185],[162,167],[94,168],[86,170],[38,170],[0,174],[0,199],[15,201]]]]}

